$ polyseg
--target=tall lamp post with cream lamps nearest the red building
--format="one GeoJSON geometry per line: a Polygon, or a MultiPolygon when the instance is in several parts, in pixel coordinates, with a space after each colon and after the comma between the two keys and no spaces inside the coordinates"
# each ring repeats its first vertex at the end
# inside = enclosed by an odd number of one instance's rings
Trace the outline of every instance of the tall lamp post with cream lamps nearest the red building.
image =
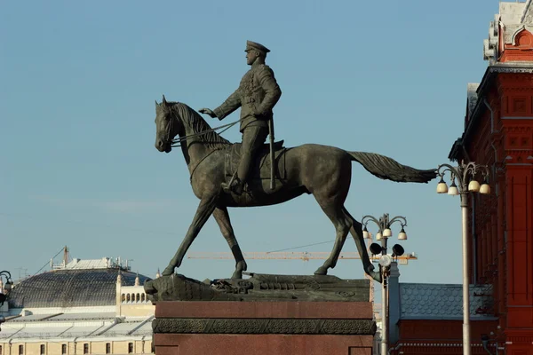
{"type": "Polygon", "coordinates": [[[469,291],[469,274],[468,274],[468,193],[490,193],[490,186],[487,183],[489,169],[485,165],[477,165],[475,162],[461,162],[457,167],[449,164],[439,165],[437,169],[441,177],[437,185],[437,193],[448,193],[452,196],[461,195],[461,222],[462,222],[462,240],[463,240],[463,354],[470,355],[470,291],[469,291]],[[451,185],[446,185],[444,177],[449,172],[451,185]],[[483,184],[475,180],[476,175],[484,177],[483,184]],[[456,179],[458,185],[456,185],[456,179]]]}

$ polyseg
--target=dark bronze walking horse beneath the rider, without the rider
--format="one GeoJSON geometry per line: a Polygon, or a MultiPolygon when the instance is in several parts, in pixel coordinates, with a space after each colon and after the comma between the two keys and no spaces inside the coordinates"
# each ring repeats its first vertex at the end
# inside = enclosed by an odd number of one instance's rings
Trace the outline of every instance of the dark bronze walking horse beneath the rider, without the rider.
{"type": "MultiPolygon", "coordinates": [[[[270,191],[266,183],[252,187],[253,193],[224,193],[226,181],[225,158],[227,147],[232,144],[211,130],[211,127],[189,106],[179,102],[155,101],[155,147],[160,152],[171,152],[174,138],[179,136],[181,151],[191,175],[191,185],[200,205],[176,255],[164,269],[163,275],[171,275],[179,267],[187,249],[191,246],[207,219],[213,215],[220,231],[235,257],[232,278],[242,279],[246,261],[235,239],[227,207],[266,206],[289,201],[303,193],[312,193],[324,213],[335,225],[337,237],[328,259],[315,274],[325,275],[338,261],[348,233],[354,237],[362,259],[364,271],[374,280],[381,281],[362,238],[362,225],[352,217],[344,202],[350,188],[352,162],[359,162],[371,174],[397,182],[427,183],[435,176],[435,170],[417,170],[402,165],[386,156],[347,152],[333,146],[306,144],[287,149],[284,156],[284,178],[270,191]]],[[[256,171],[257,173],[257,171],[256,171]]]]}

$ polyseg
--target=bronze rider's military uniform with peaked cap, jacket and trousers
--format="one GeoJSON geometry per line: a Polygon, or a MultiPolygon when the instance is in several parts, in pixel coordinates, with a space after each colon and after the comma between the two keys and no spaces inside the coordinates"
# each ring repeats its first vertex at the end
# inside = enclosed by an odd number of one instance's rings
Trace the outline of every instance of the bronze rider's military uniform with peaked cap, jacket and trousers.
{"type": "MultiPolygon", "coordinates": [[[[259,44],[248,41],[246,51],[269,50],[259,44]]],[[[255,153],[265,143],[268,136],[268,120],[272,120],[272,108],[282,96],[282,91],[275,81],[274,72],[265,64],[252,64],[243,76],[239,88],[213,112],[219,120],[241,107],[241,161],[237,178],[244,183],[251,170],[255,153]]]]}

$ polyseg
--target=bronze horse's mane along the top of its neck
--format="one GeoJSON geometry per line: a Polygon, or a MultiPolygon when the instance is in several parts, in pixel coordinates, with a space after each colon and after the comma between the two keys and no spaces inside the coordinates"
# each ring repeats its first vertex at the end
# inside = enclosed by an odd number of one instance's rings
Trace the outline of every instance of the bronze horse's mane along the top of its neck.
{"type": "MultiPolygon", "coordinates": [[[[169,102],[169,104],[171,106],[171,110],[174,111],[175,114],[178,114],[179,117],[181,117],[181,120],[185,124],[188,124],[195,131],[195,133],[211,130],[209,123],[205,122],[203,117],[191,107],[181,102],[169,102]]],[[[222,138],[214,130],[204,133],[197,138],[210,148],[219,148],[231,144],[229,140],[222,138]]]]}

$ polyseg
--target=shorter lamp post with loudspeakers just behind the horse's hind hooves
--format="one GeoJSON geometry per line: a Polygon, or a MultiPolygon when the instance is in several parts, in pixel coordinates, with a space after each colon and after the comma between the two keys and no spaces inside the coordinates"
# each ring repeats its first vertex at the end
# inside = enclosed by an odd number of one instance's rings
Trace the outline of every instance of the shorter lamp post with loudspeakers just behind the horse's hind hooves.
{"type": "Polygon", "coordinates": [[[393,262],[394,256],[402,256],[403,248],[399,244],[395,244],[393,247],[392,256],[387,255],[387,241],[390,237],[393,236],[391,230],[391,225],[398,222],[402,225],[402,231],[398,234],[398,240],[406,241],[407,233],[405,233],[405,226],[407,225],[407,219],[402,216],[396,216],[389,218],[389,215],[386,213],[382,217],[376,218],[373,216],[362,217],[361,223],[364,225],[362,230],[362,236],[365,239],[371,239],[367,225],[369,222],[374,223],[378,226],[378,233],[376,233],[376,240],[381,241],[381,245],[378,243],[372,243],[370,245],[370,252],[373,255],[381,254],[379,259],[379,271],[381,272],[382,288],[381,288],[381,354],[387,353],[388,348],[388,319],[386,314],[387,309],[387,277],[390,272],[390,266],[393,262]]]}

